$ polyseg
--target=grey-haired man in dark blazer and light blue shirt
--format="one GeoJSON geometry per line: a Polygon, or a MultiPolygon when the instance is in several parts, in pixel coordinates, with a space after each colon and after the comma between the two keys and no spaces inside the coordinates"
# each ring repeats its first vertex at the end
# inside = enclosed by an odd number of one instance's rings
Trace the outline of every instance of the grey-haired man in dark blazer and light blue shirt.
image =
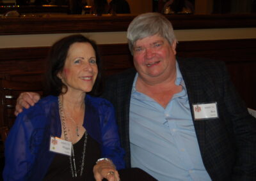
{"type": "MultiPolygon", "coordinates": [[[[255,180],[256,120],[222,62],[177,59],[172,24],[145,13],[127,30],[135,69],[109,77],[126,166],[157,180],[255,180]]],[[[21,94],[33,105],[34,94],[21,94]]],[[[25,101],[24,101],[25,99],[25,101]]]]}

